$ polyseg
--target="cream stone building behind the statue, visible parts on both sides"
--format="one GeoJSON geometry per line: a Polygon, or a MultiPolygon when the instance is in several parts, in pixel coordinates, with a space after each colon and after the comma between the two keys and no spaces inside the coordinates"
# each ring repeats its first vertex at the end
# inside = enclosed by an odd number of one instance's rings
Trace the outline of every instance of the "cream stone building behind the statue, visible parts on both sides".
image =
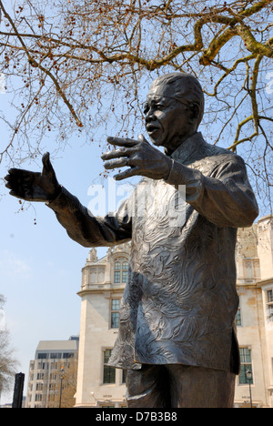
{"type": "MultiPolygon", "coordinates": [[[[129,256],[129,244],[108,249],[103,259],[91,249],[82,269],[76,407],[126,407],[124,371],[108,367],[107,360],[116,340],[129,256]]],[[[241,373],[235,407],[273,408],[273,217],[238,230],[236,260],[241,373]]]]}

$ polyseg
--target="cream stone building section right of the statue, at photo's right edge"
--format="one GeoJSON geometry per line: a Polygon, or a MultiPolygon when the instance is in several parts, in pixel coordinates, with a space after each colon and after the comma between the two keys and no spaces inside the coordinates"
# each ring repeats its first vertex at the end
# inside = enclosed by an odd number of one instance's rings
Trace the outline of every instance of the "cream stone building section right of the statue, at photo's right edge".
{"type": "Polygon", "coordinates": [[[273,408],[273,217],[239,229],[237,315],[241,374],[235,406],[273,408]],[[246,371],[252,372],[247,380],[246,371]],[[249,389],[250,384],[250,389],[249,389]]]}

